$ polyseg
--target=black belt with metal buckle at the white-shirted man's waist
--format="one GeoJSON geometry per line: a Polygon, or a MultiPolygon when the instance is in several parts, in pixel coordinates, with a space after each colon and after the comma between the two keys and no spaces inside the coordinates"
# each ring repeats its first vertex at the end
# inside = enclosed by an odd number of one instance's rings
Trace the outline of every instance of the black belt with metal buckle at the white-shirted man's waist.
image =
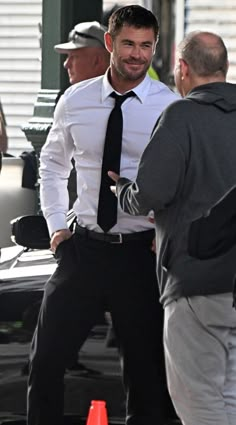
{"type": "Polygon", "coordinates": [[[108,242],[113,244],[121,244],[130,241],[142,241],[149,240],[152,241],[154,238],[154,230],[145,230],[143,232],[134,232],[134,233],[99,233],[94,230],[88,230],[86,227],[79,226],[78,224],[75,227],[75,233],[82,235],[88,239],[95,239],[96,241],[108,242]]]}

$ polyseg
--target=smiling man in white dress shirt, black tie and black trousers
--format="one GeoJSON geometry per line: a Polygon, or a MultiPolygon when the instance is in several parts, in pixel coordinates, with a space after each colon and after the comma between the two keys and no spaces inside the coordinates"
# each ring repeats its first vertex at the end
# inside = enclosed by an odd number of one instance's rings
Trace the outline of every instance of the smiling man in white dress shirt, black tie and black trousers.
{"type": "MultiPolygon", "coordinates": [[[[114,226],[97,222],[104,140],[112,93],[134,96],[122,104],[120,174],[134,179],[157,118],[178,97],[147,76],[158,40],[147,9],[115,11],[105,34],[111,54],[105,76],[74,84],[60,98],[41,153],[41,205],[58,267],[46,284],[32,342],[28,425],[63,423],[64,371],[97,317],[110,311],[119,341],[127,394],[127,425],[165,425],[169,408],[163,312],[151,249],[153,224],[120,209],[114,226]],[[66,222],[67,182],[75,159],[77,225],[66,222]],[[56,354],[56,355],[55,355],[56,354]]],[[[114,196],[113,196],[114,198],[114,196]]]]}

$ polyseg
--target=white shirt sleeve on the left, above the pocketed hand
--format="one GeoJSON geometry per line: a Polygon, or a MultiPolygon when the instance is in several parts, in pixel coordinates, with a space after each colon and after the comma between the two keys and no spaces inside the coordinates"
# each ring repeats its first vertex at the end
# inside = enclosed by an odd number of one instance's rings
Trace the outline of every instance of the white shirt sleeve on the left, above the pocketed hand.
{"type": "Polygon", "coordinates": [[[61,96],[55,108],[52,128],[40,154],[40,202],[50,235],[56,230],[67,228],[67,186],[74,143],[66,117],[65,100],[61,96]]]}

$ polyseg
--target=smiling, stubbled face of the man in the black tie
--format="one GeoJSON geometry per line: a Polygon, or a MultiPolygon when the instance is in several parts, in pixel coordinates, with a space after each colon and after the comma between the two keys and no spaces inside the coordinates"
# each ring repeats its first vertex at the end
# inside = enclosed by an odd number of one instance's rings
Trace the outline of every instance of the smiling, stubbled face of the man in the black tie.
{"type": "Polygon", "coordinates": [[[156,39],[152,28],[124,25],[112,40],[105,35],[111,53],[111,82],[123,91],[137,86],[144,78],[155,53],[156,39]]]}

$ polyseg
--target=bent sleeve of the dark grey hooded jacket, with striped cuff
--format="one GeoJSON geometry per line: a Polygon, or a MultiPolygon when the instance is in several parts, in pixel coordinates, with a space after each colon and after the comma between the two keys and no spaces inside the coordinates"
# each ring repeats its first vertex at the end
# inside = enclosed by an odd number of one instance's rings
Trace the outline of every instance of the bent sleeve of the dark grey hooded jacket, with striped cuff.
{"type": "Polygon", "coordinates": [[[117,196],[125,212],[132,215],[158,212],[180,196],[187,160],[182,143],[178,142],[183,134],[178,133],[164,115],[143,152],[136,181],[118,180],[117,196]]]}

